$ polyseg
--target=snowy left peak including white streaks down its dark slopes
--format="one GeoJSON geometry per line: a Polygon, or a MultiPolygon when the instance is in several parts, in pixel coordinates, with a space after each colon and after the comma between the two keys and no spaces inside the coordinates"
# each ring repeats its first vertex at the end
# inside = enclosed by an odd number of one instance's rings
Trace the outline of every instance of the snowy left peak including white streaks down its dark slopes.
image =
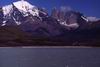
{"type": "MultiPolygon", "coordinates": [[[[20,25],[21,22],[18,21],[18,18],[14,17],[19,13],[23,15],[23,17],[31,14],[32,16],[39,16],[39,10],[37,7],[31,5],[27,1],[17,1],[13,2],[10,5],[3,6],[1,9],[3,12],[3,24],[1,26],[5,26],[8,19],[13,19],[17,25],[20,25]],[[17,12],[17,13],[16,13],[17,12]]],[[[19,15],[20,16],[20,15],[19,15]]]]}

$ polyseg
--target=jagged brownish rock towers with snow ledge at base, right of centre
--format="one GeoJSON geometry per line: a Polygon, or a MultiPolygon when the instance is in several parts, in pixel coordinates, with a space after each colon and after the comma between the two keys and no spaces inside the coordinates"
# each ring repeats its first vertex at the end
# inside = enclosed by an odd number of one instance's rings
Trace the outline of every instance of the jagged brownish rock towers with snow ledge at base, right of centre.
{"type": "Polygon", "coordinates": [[[68,10],[67,7],[63,7],[60,10],[52,10],[52,17],[57,19],[67,30],[75,30],[79,28],[81,21],[84,21],[85,23],[86,21],[81,18],[81,16],[83,16],[81,13],[68,10]]]}

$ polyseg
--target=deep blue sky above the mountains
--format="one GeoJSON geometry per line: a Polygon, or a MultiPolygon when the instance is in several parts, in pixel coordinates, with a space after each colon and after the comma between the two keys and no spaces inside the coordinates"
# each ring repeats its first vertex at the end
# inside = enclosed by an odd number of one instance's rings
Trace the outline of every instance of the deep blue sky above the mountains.
{"type": "MultiPolygon", "coordinates": [[[[0,6],[10,4],[18,0],[0,0],[0,6]]],[[[70,6],[84,13],[86,16],[100,18],[100,0],[27,0],[38,7],[45,7],[49,12],[53,7],[70,6]]]]}

